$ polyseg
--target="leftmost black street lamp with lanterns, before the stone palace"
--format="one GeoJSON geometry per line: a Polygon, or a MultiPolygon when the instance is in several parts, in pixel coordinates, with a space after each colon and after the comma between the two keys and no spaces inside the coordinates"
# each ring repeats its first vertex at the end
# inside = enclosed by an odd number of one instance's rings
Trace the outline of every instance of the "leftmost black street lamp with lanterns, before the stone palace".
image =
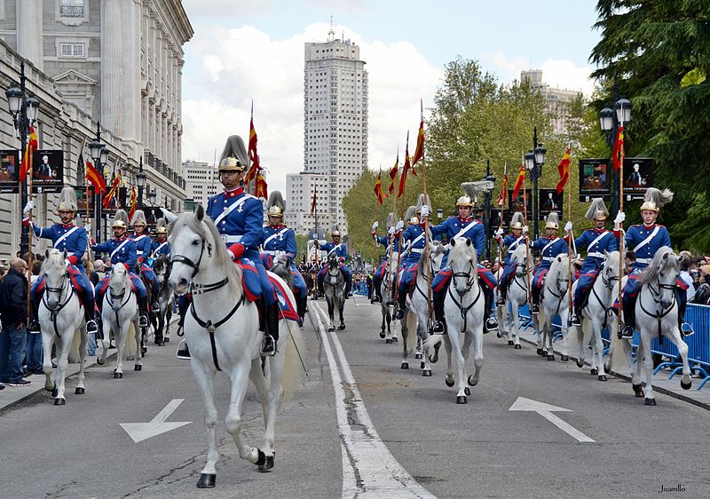
{"type": "MultiPolygon", "coordinates": [[[[20,62],[20,88],[10,87],[5,91],[12,115],[12,125],[20,133],[20,154],[22,156],[20,161],[24,160],[25,154],[27,154],[29,127],[37,121],[39,110],[39,100],[27,97],[25,83],[25,61],[22,60],[20,62]]],[[[28,188],[27,183],[20,186],[20,210],[23,210],[28,203],[28,188]]],[[[20,255],[25,255],[29,250],[29,227],[20,224],[20,228],[20,255]]]]}

